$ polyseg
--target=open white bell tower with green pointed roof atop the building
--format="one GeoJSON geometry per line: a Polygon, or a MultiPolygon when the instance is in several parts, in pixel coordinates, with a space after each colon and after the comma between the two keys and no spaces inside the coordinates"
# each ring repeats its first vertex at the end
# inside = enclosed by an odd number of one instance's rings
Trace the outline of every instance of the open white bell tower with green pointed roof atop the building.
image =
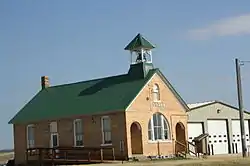
{"type": "Polygon", "coordinates": [[[146,77],[153,69],[152,49],[155,46],[146,40],[140,33],[124,48],[130,52],[129,74],[133,77],[146,77]]]}

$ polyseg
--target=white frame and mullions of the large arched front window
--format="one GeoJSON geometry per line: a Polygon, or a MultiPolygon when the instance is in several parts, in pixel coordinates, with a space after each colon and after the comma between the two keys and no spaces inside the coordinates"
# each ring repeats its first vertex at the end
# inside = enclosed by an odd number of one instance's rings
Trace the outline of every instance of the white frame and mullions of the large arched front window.
{"type": "MultiPolygon", "coordinates": [[[[154,114],[153,114],[154,116],[154,114]]],[[[160,140],[155,140],[155,133],[154,133],[154,121],[153,121],[153,116],[150,118],[151,121],[151,140],[148,139],[148,143],[158,143],[158,142],[172,142],[171,136],[169,135],[169,139],[160,139],[160,140]]],[[[164,137],[164,115],[160,114],[161,116],[161,125],[162,125],[162,137],[164,137]]],[[[167,127],[168,127],[168,134],[170,134],[170,126],[169,123],[166,119],[167,127]]]]}

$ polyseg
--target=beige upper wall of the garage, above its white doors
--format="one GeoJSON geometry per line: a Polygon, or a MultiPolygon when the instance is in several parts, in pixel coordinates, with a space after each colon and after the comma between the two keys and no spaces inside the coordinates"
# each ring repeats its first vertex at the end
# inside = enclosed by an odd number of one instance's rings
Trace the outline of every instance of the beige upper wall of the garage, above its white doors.
{"type": "MultiPolygon", "coordinates": [[[[213,102],[192,109],[188,112],[188,117],[189,121],[201,121],[206,119],[239,119],[239,110],[222,102],[213,102]]],[[[244,113],[244,118],[250,119],[250,114],[244,113]]]]}

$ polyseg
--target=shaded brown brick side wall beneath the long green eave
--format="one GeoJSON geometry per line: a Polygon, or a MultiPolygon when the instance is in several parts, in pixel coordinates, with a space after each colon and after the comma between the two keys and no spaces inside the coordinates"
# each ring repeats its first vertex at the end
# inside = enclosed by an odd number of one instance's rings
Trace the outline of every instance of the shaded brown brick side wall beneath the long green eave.
{"type": "MultiPolygon", "coordinates": [[[[112,146],[115,146],[115,155],[120,155],[120,141],[126,143],[125,134],[125,114],[116,112],[105,114],[111,118],[112,146]]],[[[83,141],[84,146],[100,147],[102,144],[101,117],[104,115],[81,116],[68,119],[57,120],[57,131],[59,135],[59,146],[74,146],[73,121],[83,120],[83,141]]],[[[35,147],[50,147],[50,121],[35,123],[35,147]]],[[[26,160],[26,125],[14,125],[14,149],[15,161],[17,164],[24,163],[26,160]]],[[[125,147],[125,150],[127,148],[125,147]]],[[[104,153],[105,155],[105,153],[104,153]]],[[[126,153],[125,153],[126,156],[126,153]]]]}

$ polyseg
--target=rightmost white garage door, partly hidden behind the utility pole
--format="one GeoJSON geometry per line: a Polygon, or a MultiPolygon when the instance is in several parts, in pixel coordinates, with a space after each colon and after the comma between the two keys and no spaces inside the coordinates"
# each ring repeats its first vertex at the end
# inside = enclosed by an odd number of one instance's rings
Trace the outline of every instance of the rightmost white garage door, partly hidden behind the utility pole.
{"type": "MultiPolygon", "coordinates": [[[[241,153],[242,152],[242,145],[241,145],[241,136],[240,136],[240,121],[239,120],[232,120],[232,151],[233,153],[241,153]]],[[[245,120],[245,133],[246,133],[246,144],[250,145],[249,142],[249,126],[248,121],[245,120]]]]}

